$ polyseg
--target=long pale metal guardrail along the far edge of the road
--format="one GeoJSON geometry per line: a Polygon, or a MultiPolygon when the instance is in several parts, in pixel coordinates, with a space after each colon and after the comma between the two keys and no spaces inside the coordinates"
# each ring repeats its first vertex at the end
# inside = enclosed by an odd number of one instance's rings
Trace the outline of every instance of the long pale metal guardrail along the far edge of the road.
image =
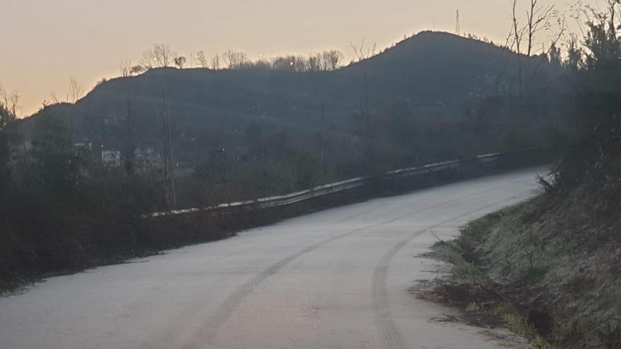
{"type": "MultiPolygon", "coordinates": [[[[409,169],[399,169],[399,170],[385,173],[384,177],[382,178],[388,178],[388,179],[406,178],[406,177],[411,177],[411,176],[420,176],[426,173],[457,169],[458,167],[464,166],[465,164],[488,164],[490,162],[498,161],[498,159],[501,159],[501,158],[504,158],[510,155],[528,153],[528,152],[537,152],[543,149],[545,148],[532,148],[532,149],[526,149],[520,152],[513,152],[513,153],[483,154],[483,155],[479,155],[478,157],[475,157],[474,159],[444,161],[444,162],[438,162],[436,164],[411,167],[409,169]]],[[[269,207],[285,206],[288,204],[294,204],[296,202],[310,200],[315,197],[322,197],[325,195],[342,192],[344,190],[351,190],[354,188],[358,188],[368,183],[369,180],[373,180],[373,178],[374,178],[373,176],[352,178],[352,179],[343,180],[337,183],[320,185],[318,187],[311,188],[308,190],[301,190],[299,192],[291,192],[290,194],[277,195],[277,196],[272,196],[272,197],[262,197],[257,200],[231,202],[228,204],[218,204],[218,205],[210,206],[210,207],[177,209],[177,210],[172,210],[172,211],[167,211],[167,212],[154,212],[152,214],[145,214],[142,216],[142,218],[155,218],[155,217],[162,217],[162,216],[173,216],[177,214],[191,214],[191,213],[197,213],[197,212],[222,212],[222,211],[226,212],[230,209],[251,210],[251,209],[265,209],[269,207]]]]}

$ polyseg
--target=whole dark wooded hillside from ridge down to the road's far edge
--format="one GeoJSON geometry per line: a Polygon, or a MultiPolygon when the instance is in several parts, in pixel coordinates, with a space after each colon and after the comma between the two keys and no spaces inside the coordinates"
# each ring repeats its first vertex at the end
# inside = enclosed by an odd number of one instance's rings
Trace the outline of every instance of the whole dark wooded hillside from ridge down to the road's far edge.
{"type": "Polygon", "coordinates": [[[517,59],[423,32],[337,71],[152,69],[104,82],[76,104],[47,106],[0,133],[15,154],[0,164],[8,179],[0,186],[0,288],[245,226],[229,216],[162,224],[141,214],[548,145],[564,124],[555,72],[542,57],[521,57],[524,72],[538,75],[516,88],[517,59]],[[162,154],[164,111],[176,180],[157,166],[133,171],[131,157],[101,166],[102,151],[162,154]],[[92,149],[76,146],[89,142],[92,149]]]}

